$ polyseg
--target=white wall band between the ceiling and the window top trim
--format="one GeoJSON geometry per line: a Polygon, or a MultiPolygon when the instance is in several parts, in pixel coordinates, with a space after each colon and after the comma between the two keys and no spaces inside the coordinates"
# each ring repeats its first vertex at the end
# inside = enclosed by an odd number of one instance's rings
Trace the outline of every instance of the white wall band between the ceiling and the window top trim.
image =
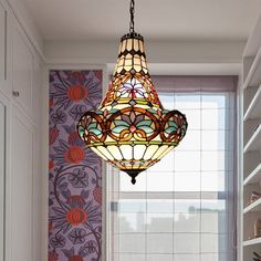
{"type": "MultiPolygon", "coordinates": [[[[145,35],[146,36],[146,35],[145,35]]],[[[240,63],[244,41],[146,41],[149,63],[240,63]]],[[[84,61],[115,63],[119,39],[115,41],[46,41],[48,63],[84,61]]]]}

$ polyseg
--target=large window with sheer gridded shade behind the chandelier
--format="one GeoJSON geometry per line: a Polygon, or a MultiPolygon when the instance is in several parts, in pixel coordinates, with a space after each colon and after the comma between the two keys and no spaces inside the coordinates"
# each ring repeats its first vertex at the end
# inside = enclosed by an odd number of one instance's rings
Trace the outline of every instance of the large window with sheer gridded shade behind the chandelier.
{"type": "Polygon", "coordinates": [[[188,132],[174,152],[139,174],[135,186],[126,174],[107,170],[108,260],[236,260],[237,81],[156,81],[164,106],[187,115],[188,132]]]}

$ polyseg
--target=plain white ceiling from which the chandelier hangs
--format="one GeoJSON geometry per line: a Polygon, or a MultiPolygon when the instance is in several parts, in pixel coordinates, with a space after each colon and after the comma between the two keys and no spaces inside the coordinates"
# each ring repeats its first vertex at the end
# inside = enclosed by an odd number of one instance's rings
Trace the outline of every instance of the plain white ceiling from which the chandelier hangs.
{"type": "MultiPolygon", "coordinates": [[[[21,0],[44,40],[114,40],[129,0],[21,0]]],[[[154,40],[246,40],[261,0],[136,0],[136,31],[154,40]]]]}

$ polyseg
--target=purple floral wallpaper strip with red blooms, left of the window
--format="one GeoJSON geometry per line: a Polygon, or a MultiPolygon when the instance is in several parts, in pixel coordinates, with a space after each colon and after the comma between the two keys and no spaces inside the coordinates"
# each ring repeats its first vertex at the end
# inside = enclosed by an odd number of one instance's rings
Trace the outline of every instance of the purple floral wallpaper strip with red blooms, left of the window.
{"type": "Polygon", "coordinates": [[[101,261],[102,161],[76,122],[102,100],[102,71],[50,71],[49,261],[101,261]]]}

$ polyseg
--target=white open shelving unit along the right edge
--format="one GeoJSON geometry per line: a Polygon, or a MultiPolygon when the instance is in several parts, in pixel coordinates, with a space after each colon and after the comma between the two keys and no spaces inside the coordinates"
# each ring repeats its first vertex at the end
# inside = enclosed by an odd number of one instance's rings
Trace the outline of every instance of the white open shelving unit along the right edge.
{"type": "Polygon", "coordinates": [[[261,254],[261,234],[254,223],[261,219],[261,17],[243,53],[243,175],[242,175],[242,260],[261,254]]]}

